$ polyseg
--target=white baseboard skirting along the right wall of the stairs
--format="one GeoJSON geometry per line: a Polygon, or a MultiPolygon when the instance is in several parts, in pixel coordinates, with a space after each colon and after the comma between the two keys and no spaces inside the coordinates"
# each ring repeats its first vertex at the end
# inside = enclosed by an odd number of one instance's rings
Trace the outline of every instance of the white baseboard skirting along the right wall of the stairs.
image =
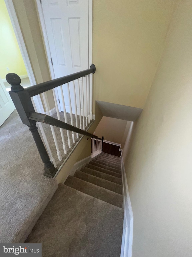
{"type": "Polygon", "coordinates": [[[123,208],[124,208],[121,257],[131,257],[132,245],[133,245],[133,211],[131,208],[131,201],[130,201],[129,192],[128,192],[128,184],[127,184],[127,178],[125,174],[123,157],[121,157],[121,164],[122,164],[123,208]]]}

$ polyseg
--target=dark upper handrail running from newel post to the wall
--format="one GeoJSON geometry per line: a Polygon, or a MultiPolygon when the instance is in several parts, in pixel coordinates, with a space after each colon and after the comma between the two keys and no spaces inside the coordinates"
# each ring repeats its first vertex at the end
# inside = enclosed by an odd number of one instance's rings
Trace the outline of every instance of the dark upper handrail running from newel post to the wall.
{"type": "Polygon", "coordinates": [[[88,74],[91,74],[91,73],[94,74],[95,70],[96,70],[95,65],[91,64],[90,68],[85,71],[79,71],[79,72],[76,72],[76,73],[73,73],[73,74],[70,74],[70,75],[67,75],[64,77],[60,77],[58,79],[49,80],[49,81],[46,81],[43,83],[39,83],[38,85],[27,87],[26,91],[29,92],[30,97],[36,96],[36,95],[46,92],[50,89],[53,89],[57,86],[61,86],[70,81],[84,77],[88,74]]]}

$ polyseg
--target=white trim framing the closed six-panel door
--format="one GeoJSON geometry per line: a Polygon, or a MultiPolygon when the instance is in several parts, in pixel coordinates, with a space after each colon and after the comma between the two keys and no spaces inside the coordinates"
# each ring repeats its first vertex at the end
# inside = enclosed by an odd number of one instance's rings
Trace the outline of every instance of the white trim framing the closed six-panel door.
{"type": "MultiPolygon", "coordinates": [[[[46,53],[47,53],[47,59],[48,59],[51,79],[55,79],[53,65],[51,62],[51,51],[50,51],[48,37],[47,37],[47,33],[46,33],[43,8],[42,8],[40,0],[36,0],[36,2],[37,2],[39,18],[40,18],[41,28],[42,28],[44,42],[45,42],[45,48],[46,48],[46,53]]],[[[92,2],[93,2],[93,0],[88,0],[88,63],[89,63],[89,67],[92,64],[92,17],[93,17],[93,13],[92,13],[93,3],[92,2]]],[[[92,89],[92,77],[90,77],[90,90],[91,89],[92,89]]],[[[58,109],[59,109],[59,111],[61,111],[60,103],[58,102],[57,88],[55,88],[55,94],[56,94],[58,109]]]]}

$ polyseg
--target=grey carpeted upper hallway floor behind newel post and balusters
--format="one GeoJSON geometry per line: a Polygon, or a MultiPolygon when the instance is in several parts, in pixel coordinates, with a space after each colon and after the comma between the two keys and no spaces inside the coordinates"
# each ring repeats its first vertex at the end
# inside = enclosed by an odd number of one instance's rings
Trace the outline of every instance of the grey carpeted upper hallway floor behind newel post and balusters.
{"type": "MultiPolygon", "coordinates": [[[[64,119],[63,116],[61,113],[61,119],[64,119]]],[[[56,118],[56,114],[53,117],[56,118]]],[[[70,121],[69,114],[67,118],[70,121]]],[[[75,124],[74,115],[73,122],[75,124]]],[[[75,143],[72,143],[69,150],[67,133],[63,130],[68,150],[65,155],[60,130],[55,128],[63,158],[58,161],[50,126],[43,124],[43,127],[58,168],[75,143]]],[[[39,129],[38,131],[41,134],[39,129]]],[[[78,140],[76,139],[76,142],[78,140]]],[[[29,224],[38,216],[42,205],[48,201],[47,197],[52,196],[57,189],[56,180],[43,176],[43,167],[29,128],[22,124],[17,111],[13,111],[0,127],[0,243],[22,241],[29,224]]]]}

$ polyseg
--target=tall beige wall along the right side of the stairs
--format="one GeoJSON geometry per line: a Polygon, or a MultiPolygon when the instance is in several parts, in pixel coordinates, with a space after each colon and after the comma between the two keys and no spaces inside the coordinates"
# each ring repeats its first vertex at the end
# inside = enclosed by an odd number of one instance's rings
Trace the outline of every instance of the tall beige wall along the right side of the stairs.
{"type": "Polygon", "coordinates": [[[133,257],[192,254],[192,1],[179,1],[130,157],[133,257]]]}

